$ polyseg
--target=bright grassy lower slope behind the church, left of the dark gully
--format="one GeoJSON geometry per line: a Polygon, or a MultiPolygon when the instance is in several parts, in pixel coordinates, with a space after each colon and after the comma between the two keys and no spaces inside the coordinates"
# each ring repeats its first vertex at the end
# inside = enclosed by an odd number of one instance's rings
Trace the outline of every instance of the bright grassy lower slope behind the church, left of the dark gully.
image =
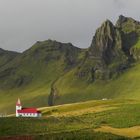
{"type": "MultiPolygon", "coordinates": [[[[46,71],[45,76],[42,75],[42,70],[46,67],[41,67],[40,72],[36,71],[33,75],[35,78],[34,82],[28,86],[22,88],[15,88],[12,90],[4,90],[0,92],[0,110],[8,112],[13,112],[15,110],[15,103],[17,98],[21,98],[23,105],[26,106],[47,106],[48,105],[48,95],[50,93],[50,88],[52,81],[55,80],[57,76],[61,74],[61,71],[56,67],[58,64],[52,63],[48,67],[49,71],[46,71]],[[55,69],[51,69],[55,68],[55,69]],[[54,72],[53,76],[50,76],[50,73],[54,72]]],[[[59,68],[59,67],[58,67],[59,68]]],[[[25,70],[25,69],[24,69],[25,70]]],[[[27,70],[25,70],[27,71],[27,70]]]]}

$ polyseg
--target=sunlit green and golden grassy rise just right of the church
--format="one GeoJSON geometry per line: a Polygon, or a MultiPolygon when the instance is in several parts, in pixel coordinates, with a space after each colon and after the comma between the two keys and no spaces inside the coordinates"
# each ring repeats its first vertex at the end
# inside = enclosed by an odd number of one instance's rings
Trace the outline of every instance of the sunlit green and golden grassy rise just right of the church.
{"type": "Polygon", "coordinates": [[[73,121],[77,119],[77,121],[81,121],[81,124],[85,124],[84,126],[88,126],[88,128],[96,128],[103,124],[117,128],[127,128],[140,125],[139,109],[139,100],[107,100],[87,101],[76,104],[43,108],[42,113],[43,116],[48,117],[62,116],[61,118],[69,118],[73,121]],[[99,111],[98,107],[101,107],[99,111]],[[110,107],[112,108],[109,109],[110,107]],[[92,111],[92,109],[95,110],[92,111]],[[82,112],[81,110],[88,110],[88,112],[82,112]],[[47,114],[48,111],[50,111],[51,114],[47,114]],[[75,111],[79,113],[75,114],[75,111]],[[65,113],[67,112],[70,112],[70,114],[65,116],[65,113]]]}

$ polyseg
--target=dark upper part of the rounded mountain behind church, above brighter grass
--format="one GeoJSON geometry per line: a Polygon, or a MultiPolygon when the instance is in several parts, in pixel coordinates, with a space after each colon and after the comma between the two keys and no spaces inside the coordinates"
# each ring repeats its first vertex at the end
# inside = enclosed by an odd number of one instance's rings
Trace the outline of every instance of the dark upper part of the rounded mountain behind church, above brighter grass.
{"type": "Polygon", "coordinates": [[[0,79],[0,87],[13,89],[40,80],[51,82],[79,63],[80,52],[70,43],[37,42],[0,69],[0,75],[6,75],[0,79]]]}

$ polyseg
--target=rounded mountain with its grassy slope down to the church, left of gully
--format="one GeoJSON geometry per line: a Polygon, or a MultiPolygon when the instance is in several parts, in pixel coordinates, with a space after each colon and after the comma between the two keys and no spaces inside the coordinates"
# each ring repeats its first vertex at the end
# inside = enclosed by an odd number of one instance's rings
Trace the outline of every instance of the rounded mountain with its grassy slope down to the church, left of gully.
{"type": "Polygon", "coordinates": [[[18,97],[27,105],[47,106],[53,82],[79,63],[81,53],[70,43],[37,42],[0,69],[0,110],[13,111],[18,97]]]}

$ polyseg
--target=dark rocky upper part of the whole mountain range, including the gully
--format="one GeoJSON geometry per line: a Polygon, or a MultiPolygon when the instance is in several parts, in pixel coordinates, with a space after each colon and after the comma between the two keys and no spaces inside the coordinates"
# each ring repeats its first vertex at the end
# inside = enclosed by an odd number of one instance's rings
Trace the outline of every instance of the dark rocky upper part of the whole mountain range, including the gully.
{"type": "Polygon", "coordinates": [[[140,23],[121,15],[116,25],[106,20],[87,49],[52,40],[38,41],[21,54],[0,49],[0,89],[44,86],[49,89],[48,103],[53,105],[59,97],[55,83],[58,79],[65,83],[69,72],[68,81],[90,84],[120,75],[139,59],[140,23]]]}

